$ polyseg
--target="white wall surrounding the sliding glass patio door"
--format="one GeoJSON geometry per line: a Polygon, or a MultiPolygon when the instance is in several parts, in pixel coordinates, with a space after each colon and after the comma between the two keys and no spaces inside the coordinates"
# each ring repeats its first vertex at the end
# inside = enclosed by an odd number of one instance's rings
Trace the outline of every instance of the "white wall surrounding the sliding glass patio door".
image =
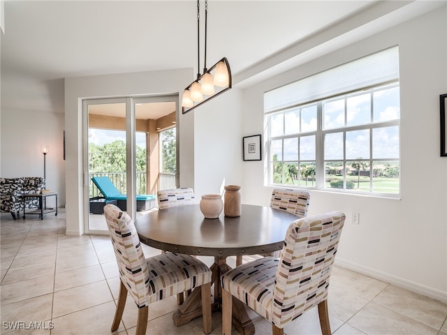
{"type": "MultiPolygon", "coordinates": [[[[66,234],[84,232],[82,199],[82,98],[173,94],[191,82],[192,69],[122,73],[65,80],[66,234]]],[[[180,138],[180,185],[193,185],[193,115],[177,118],[180,138]]]]}

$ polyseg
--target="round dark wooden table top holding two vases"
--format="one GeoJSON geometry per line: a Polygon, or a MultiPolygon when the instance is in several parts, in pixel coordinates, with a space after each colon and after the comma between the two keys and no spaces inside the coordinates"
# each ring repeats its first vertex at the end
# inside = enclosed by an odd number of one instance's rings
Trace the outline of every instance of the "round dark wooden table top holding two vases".
{"type": "Polygon", "coordinates": [[[198,204],[152,211],[135,221],[140,241],[161,250],[228,257],[280,250],[298,217],[271,207],[242,204],[241,216],[204,218],[198,204]]]}

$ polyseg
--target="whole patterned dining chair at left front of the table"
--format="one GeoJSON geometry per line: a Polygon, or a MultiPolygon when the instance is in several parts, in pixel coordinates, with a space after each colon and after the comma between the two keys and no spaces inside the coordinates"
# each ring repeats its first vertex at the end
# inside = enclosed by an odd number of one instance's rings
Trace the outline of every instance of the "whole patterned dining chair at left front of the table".
{"type": "Polygon", "coordinates": [[[129,215],[114,204],[104,207],[105,221],[119,268],[119,297],[112,332],[119,327],[127,292],[138,306],[135,334],[146,334],[149,304],[200,287],[203,331],[211,332],[211,270],[197,258],[163,253],[145,258],[135,225],[129,215]]]}

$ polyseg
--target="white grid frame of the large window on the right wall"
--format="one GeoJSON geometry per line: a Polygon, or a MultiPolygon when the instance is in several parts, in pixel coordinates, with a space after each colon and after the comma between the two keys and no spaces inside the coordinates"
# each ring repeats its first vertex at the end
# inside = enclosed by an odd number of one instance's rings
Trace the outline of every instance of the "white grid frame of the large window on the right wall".
{"type": "MultiPolygon", "coordinates": [[[[265,153],[266,153],[266,158],[267,158],[267,166],[266,166],[266,176],[265,176],[265,181],[266,184],[268,184],[268,186],[274,186],[274,187],[288,187],[288,188],[309,188],[309,189],[314,189],[314,190],[318,190],[318,191],[327,191],[327,192],[337,192],[337,193],[351,193],[351,194],[357,194],[357,195],[370,195],[370,196],[379,196],[379,197],[384,197],[384,198],[400,198],[401,195],[401,173],[400,173],[400,168],[401,168],[401,155],[400,155],[400,133],[401,133],[401,129],[400,129],[400,115],[398,117],[398,119],[392,119],[392,120],[386,120],[386,121],[374,121],[374,92],[376,91],[380,91],[382,89],[393,89],[397,87],[398,89],[400,89],[400,82],[399,80],[395,80],[393,82],[386,82],[386,83],[381,83],[381,84],[376,84],[372,87],[368,87],[367,89],[362,88],[362,89],[358,89],[355,91],[350,91],[350,92],[346,92],[344,94],[337,94],[337,96],[331,96],[328,98],[321,98],[318,99],[318,101],[312,101],[309,103],[301,103],[301,104],[297,104],[297,105],[293,105],[293,106],[281,106],[280,108],[278,108],[277,110],[271,110],[269,112],[265,112],[264,113],[264,124],[265,124],[265,153]],[[370,101],[369,101],[369,107],[370,110],[369,112],[371,113],[370,115],[370,120],[368,123],[365,124],[356,124],[356,125],[347,125],[347,107],[346,107],[346,101],[348,100],[348,98],[351,98],[353,96],[359,96],[361,94],[365,94],[366,92],[369,92],[369,94],[371,95],[370,101]],[[344,99],[344,125],[343,126],[339,126],[337,128],[327,128],[324,129],[324,125],[323,125],[323,105],[324,103],[328,103],[330,101],[336,101],[339,100],[340,98],[344,99]],[[316,119],[317,119],[317,126],[316,126],[316,131],[307,131],[307,132],[298,132],[298,133],[293,133],[293,134],[285,134],[285,122],[286,122],[286,117],[285,114],[288,110],[293,110],[296,108],[305,108],[309,105],[316,105],[317,106],[317,111],[316,111],[316,119]],[[270,124],[270,117],[274,114],[283,114],[283,135],[277,135],[274,137],[270,137],[270,131],[271,131],[271,124],[270,124]],[[374,129],[378,129],[378,128],[388,128],[388,127],[393,127],[393,126],[397,126],[397,131],[399,134],[399,151],[398,151],[398,156],[395,158],[375,158],[373,157],[373,142],[374,142],[374,137],[373,137],[373,133],[374,133],[374,129]],[[362,131],[362,130],[368,130],[369,131],[369,158],[354,158],[354,159],[348,159],[346,158],[346,133],[349,131],[362,131]],[[325,159],[325,135],[326,134],[330,134],[330,133],[342,133],[343,134],[343,155],[341,159],[325,159]],[[300,143],[300,137],[305,137],[305,136],[309,136],[309,135],[315,135],[315,148],[316,148],[316,153],[315,153],[315,185],[314,186],[309,186],[309,185],[303,185],[304,183],[300,183],[300,184],[278,184],[278,183],[274,183],[274,170],[273,170],[273,165],[274,165],[274,161],[272,159],[272,152],[271,152],[271,143],[273,140],[283,140],[282,142],[282,147],[281,147],[281,153],[282,153],[282,159],[281,161],[279,161],[279,163],[283,164],[283,168],[282,168],[282,181],[284,181],[284,171],[285,171],[285,166],[287,163],[297,163],[298,167],[300,167],[301,163],[306,163],[308,162],[313,162],[313,161],[309,161],[309,160],[300,160],[300,156],[299,156],[299,143],[300,143]],[[284,159],[284,139],[287,138],[293,138],[293,137],[298,137],[298,161],[286,161],[284,159]],[[344,188],[332,188],[332,187],[327,187],[325,186],[325,180],[326,180],[326,174],[325,174],[325,165],[326,163],[330,161],[340,161],[343,164],[343,181],[344,181],[344,188]],[[346,173],[346,167],[347,167],[347,162],[351,162],[351,161],[365,161],[368,163],[369,165],[369,191],[361,191],[359,189],[356,188],[351,188],[348,189],[346,188],[346,181],[348,179],[348,173],[346,173]],[[398,180],[398,186],[397,186],[397,193],[384,193],[384,192],[374,192],[374,187],[373,187],[373,175],[374,175],[374,163],[376,162],[386,162],[386,161],[390,161],[390,162],[398,162],[398,167],[399,167],[399,180],[398,180]]],[[[301,124],[301,119],[300,119],[300,124],[301,124]]],[[[300,176],[300,170],[298,170],[298,177],[301,180],[301,176],[300,176]]]]}

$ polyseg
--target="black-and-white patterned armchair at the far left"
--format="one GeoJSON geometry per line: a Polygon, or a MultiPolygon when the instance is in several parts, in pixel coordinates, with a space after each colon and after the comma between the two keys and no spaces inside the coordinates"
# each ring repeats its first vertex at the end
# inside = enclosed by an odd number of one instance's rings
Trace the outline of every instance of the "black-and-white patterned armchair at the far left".
{"type": "MultiPolygon", "coordinates": [[[[22,194],[36,193],[45,189],[42,177],[0,178],[0,211],[10,213],[17,220],[23,208],[22,194]]],[[[27,198],[25,208],[38,208],[38,198],[27,198]]]]}

